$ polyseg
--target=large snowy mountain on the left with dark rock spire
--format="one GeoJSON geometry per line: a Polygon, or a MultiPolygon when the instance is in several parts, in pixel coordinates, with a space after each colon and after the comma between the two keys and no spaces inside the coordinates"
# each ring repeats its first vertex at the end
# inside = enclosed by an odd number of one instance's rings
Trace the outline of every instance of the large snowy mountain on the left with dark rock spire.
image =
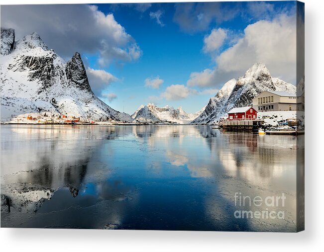
{"type": "Polygon", "coordinates": [[[42,111],[84,120],[131,120],[93,93],[78,52],[65,62],[37,33],[14,38],[13,29],[1,28],[1,121],[42,111]]]}

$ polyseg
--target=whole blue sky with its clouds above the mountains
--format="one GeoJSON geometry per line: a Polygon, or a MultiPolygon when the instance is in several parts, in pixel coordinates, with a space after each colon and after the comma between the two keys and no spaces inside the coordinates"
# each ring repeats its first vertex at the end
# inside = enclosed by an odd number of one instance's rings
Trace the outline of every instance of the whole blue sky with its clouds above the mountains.
{"type": "Polygon", "coordinates": [[[94,92],[126,113],[194,113],[256,62],[296,84],[295,1],[20,6],[1,6],[1,26],[38,32],[66,60],[79,51],[94,92]]]}

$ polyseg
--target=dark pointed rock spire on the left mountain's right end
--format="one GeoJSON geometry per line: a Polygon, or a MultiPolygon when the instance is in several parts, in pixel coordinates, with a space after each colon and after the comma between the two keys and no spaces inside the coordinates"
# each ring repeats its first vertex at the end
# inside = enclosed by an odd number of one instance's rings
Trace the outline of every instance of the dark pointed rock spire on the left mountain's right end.
{"type": "Polygon", "coordinates": [[[75,85],[82,90],[86,89],[91,91],[87,72],[83,65],[80,53],[76,52],[72,59],[67,62],[65,72],[69,84],[75,85]]]}

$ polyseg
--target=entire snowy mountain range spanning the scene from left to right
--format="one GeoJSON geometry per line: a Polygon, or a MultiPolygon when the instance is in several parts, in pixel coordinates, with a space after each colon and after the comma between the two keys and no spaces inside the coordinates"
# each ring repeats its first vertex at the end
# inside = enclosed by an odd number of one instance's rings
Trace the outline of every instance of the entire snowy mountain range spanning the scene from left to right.
{"type": "Polygon", "coordinates": [[[243,77],[225,83],[195,114],[186,113],[182,107],[147,104],[130,116],[112,109],[93,93],[78,52],[65,62],[47,48],[37,33],[15,41],[14,30],[2,28],[0,78],[1,121],[19,114],[50,111],[84,120],[213,124],[233,107],[251,105],[262,91],[296,93],[296,86],[272,78],[263,63],[256,63],[243,77]]]}

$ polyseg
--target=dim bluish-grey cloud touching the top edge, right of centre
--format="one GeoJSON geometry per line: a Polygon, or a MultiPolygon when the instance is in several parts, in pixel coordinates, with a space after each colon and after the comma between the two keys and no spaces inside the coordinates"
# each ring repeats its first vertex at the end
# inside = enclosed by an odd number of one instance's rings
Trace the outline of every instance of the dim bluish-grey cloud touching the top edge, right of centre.
{"type": "Polygon", "coordinates": [[[233,2],[180,2],[175,4],[173,20],[185,32],[204,31],[212,22],[221,23],[234,18],[239,11],[239,4],[233,2]]]}

